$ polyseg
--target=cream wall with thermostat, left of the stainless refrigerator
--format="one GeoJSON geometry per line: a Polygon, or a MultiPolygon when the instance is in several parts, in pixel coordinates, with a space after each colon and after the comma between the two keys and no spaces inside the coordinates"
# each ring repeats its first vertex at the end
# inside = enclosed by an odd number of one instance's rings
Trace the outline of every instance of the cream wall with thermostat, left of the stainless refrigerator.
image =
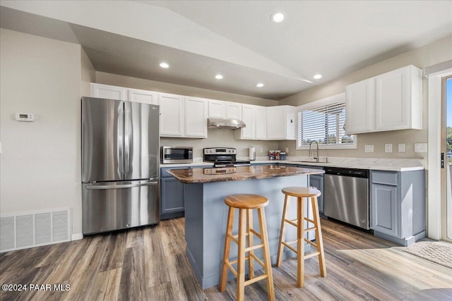
{"type": "Polygon", "coordinates": [[[81,233],[81,47],[1,29],[0,55],[1,214],[69,207],[81,233]]]}

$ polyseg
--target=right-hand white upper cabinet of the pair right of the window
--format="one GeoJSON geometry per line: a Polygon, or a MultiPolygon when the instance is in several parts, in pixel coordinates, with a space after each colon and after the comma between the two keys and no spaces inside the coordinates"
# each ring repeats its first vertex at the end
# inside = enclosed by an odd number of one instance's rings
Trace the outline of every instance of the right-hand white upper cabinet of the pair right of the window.
{"type": "Polygon", "coordinates": [[[375,81],[375,130],[422,130],[422,70],[407,66],[375,81]]]}

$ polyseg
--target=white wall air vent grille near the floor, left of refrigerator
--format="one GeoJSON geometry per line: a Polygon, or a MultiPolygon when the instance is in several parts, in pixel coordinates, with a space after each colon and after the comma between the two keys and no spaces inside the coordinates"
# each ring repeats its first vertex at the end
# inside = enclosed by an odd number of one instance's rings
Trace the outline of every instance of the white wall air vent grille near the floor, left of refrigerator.
{"type": "Polygon", "coordinates": [[[71,240],[69,209],[0,217],[0,252],[71,240]]]}

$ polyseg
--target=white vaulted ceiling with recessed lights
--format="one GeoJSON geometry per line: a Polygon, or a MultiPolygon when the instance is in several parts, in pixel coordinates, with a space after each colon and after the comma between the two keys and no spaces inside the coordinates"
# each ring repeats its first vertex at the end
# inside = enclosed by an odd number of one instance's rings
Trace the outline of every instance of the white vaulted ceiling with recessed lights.
{"type": "Polygon", "coordinates": [[[96,70],[283,99],[452,34],[452,1],[0,1],[96,70]],[[285,13],[283,23],[270,16],[285,13]],[[158,67],[167,61],[170,68],[158,67]],[[225,78],[215,80],[221,73],[225,78]],[[312,76],[321,73],[321,80],[312,76]],[[256,87],[263,82],[264,87],[256,87]]]}

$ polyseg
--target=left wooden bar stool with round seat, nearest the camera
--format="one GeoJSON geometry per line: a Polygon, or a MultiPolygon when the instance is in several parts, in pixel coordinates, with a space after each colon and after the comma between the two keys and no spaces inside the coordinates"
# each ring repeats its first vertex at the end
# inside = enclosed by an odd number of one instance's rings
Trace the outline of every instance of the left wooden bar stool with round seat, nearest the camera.
{"type": "Polygon", "coordinates": [[[229,206],[229,213],[227,215],[227,231],[225,238],[225,252],[222,263],[222,273],[220,281],[220,291],[224,292],[227,281],[227,268],[231,269],[232,273],[237,277],[237,300],[244,300],[245,286],[255,283],[262,279],[267,281],[268,300],[275,300],[275,289],[273,287],[273,275],[271,272],[270,250],[268,249],[267,225],[264,207],[268,204],[268,199],[261,195],[228,195],[225,197],[225,203],[229,206]],[[232,224],[234,223],[234,210],[239,209],[239,233],[232,235],[232,224]],[[259,227],[261,233],[253,229],[253,211],[257,209],[259,227]],[[253,244],[253,234],[260,240],[260,245],[253,244]],[[246,238],[248,238],[248,247],[246,247],[246,238]],[[239,254],[237,260],[229,261],[231,240],[237,243],[239,247],[239,254]],[[256,257],[254,250],[263,248],[263,262],[256,257]],[[249,253],[248,256],[245,256],[249,253]],[[245,261],[249,262],[249,280],[245,281],[245,261]],[[261,276],[254,276],[254,260],[261,264],[264,269],[264,274],[261,276]],[[237,263],[237,271],[232,264],[237,263]]]}

